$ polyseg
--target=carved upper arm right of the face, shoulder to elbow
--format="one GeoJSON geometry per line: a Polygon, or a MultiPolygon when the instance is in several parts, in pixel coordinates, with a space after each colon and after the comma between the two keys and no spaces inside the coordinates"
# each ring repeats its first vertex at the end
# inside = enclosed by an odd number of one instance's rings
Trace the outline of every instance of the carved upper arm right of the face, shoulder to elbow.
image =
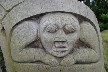
{"type": "Polygon", "coordinates": [[[80,40],[84,42],[88,47],[99,52],[99,40],[96,30],[89,22],[82,22],[80,24],[80,40]]]}

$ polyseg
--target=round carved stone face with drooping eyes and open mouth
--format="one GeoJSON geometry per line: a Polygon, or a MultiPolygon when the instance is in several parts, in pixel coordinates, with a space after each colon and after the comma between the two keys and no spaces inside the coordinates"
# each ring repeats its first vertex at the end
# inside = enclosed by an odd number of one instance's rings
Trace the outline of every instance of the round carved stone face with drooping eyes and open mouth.
{"type": "Polygon", "coordinates": [[[72,14],[47,14],[40,22],[40,39],[47,52],[63,57],[73,50],[79,30],[78,20],[72,14]]]}

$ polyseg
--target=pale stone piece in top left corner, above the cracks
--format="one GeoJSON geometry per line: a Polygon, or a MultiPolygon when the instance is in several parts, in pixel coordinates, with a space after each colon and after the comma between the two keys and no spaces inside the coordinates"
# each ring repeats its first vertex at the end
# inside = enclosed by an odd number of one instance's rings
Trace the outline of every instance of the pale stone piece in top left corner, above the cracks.
{"type": "Polygon", "coordinates": [[[2,0],[0,1],[0,4],[6,9],[9,10],[15,5],[23,2],[24,0],[2,0]]]}

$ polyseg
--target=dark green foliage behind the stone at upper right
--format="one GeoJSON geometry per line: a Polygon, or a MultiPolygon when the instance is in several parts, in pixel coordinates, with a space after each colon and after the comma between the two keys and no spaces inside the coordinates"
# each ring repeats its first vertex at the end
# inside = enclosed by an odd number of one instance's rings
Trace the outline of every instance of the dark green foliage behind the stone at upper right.
{"type": "Polygon", "coordinates": [[[86,0],[84,3],[95,13],[100,30],[108,30],[108,0],[86,0]]]}

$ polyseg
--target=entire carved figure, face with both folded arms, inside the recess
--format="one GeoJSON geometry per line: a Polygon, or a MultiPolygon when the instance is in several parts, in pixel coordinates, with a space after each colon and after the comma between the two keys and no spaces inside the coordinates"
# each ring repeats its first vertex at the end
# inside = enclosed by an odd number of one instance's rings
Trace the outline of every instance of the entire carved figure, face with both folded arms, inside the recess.
{"type": "Polygon", "coordinates": [[[47,14],[40,23],[36,19],[20,22],[12,30],[10,48],[16,62],[71,66],[99,61],[98,38],[93,26],[85,21],[80,24],[67,13],[47,14]],[[64,58],[59,63],[56,57],[64,58]]]}

